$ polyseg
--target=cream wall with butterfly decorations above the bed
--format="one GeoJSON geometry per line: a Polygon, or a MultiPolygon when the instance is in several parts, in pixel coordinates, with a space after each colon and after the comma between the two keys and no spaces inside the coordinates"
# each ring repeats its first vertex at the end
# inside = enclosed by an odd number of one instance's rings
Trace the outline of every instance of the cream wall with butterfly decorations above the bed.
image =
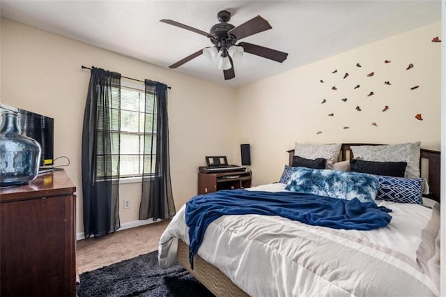
{"type": "Polygon", "coordinates": [[[286,150],[295,142],[420,140],[422,147],[439,150],[441,43],[431,43],[435,36],[441,36],[440,22],[238,89],[239,134],[233,150],[238,156],[238,144],[251,144],[254,185],[278,181],[288,162],[286,150]],[[391,62],[384,63],[386,59],[391,62]],[[410,63],[414,67],[406,70],[410,63]],[[371,72],[374,76],[368,77],[371,72]],[[345,73],[349,75],[344,79],[345,73]],[[357,84],[360,88],[354,89],[357,84]],[[371,91],[374,95],[368,97],[371,91]],[[385,105],[389,109],[382,112],[385,105]]]}

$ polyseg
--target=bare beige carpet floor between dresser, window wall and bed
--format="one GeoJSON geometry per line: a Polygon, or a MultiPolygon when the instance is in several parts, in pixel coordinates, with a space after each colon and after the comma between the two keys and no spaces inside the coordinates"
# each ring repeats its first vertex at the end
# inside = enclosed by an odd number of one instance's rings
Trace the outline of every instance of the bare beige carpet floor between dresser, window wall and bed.
{"type": "Polygon", "coordinates": [[[117,231],[101,238],[77,241],[77,273],[137,257],[158,249],[158,243],[170,220],[117,231]]]}

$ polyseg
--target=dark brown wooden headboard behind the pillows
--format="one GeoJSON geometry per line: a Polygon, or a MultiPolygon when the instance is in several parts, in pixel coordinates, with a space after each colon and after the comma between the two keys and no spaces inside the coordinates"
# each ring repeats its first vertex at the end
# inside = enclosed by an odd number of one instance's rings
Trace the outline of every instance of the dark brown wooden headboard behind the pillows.
{"type": "MultiPolygon", "coordinates": [[[[342,144],[341,152],[339,153],[339,161],[349,160],[353,158],[353,151],[351,151],[350,146],[375,146],[379,144],[342,144]]],[[[289,165],[293,165],[294,150],[287,151],[289,153],[289,165]]],[[[424,197],[429,197],[440,203],[440,152],[431,151],[429,149],[421,149],[420,157],[420,172],[422,176],[425,177],[429,183],[430,193],[428,195],[423,195],[424,197]],[[426,163],[422,162],[426,160],[426,163]],[[427,168],[422,166],[426,164],[427,168]]]]}

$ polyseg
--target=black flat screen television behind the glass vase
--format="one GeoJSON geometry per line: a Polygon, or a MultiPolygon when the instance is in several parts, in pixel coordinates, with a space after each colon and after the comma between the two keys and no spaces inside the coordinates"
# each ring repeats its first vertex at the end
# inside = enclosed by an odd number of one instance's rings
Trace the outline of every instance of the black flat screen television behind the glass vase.
{"type": "MultiPolygon", "coordinates": [[[[42,114],[36,114],[27,110],[12,107],[0,103],[0,114],[4,110],[13,110],[19,113],[20,129],[22,134],[36,141],[42,148],[40,167],[54,164],[54,119],[42,114]]],[[[0,116],[0,124],[1,124],[0,116]]]]}

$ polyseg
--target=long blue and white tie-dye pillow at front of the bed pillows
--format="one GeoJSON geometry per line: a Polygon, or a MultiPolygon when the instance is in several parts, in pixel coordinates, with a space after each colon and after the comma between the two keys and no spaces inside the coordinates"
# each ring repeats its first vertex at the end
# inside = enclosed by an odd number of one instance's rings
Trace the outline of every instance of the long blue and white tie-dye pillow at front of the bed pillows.
{"type": "Polygon", "coordinates": [[[330,169],[295,167],[285,189],[332,198],[361,202],[375,201],[378,178],[359,172],[340,172],[330,169]]]}

